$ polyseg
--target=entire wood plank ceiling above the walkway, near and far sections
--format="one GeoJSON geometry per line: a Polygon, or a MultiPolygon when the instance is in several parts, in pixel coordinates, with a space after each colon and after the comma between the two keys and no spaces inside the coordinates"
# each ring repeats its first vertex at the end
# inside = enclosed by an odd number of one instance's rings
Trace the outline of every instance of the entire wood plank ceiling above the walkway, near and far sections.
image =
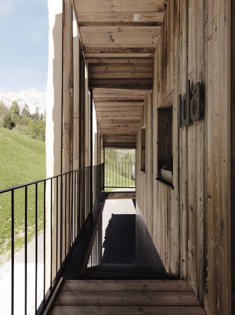
{"type": "Polygon", "coordinates": [[[135,135],[165,0],[74,0],[101,134],[135,135]]]}

